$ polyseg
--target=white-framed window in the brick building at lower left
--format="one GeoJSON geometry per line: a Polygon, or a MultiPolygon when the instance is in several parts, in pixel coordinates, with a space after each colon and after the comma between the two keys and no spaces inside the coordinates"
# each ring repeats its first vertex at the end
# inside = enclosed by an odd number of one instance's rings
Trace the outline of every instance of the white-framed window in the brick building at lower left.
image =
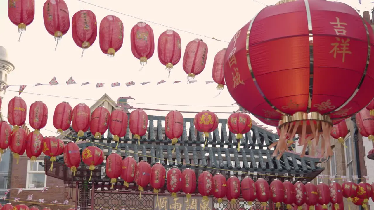
{"type": "Polygon", "coordinates": [[[47,176],[45,175],[44,168],[39,163],[43,163],[43,161],[37,160],[31,163],[29,160],[27,162],[26,189],[28,190],[40,190],[46,186],[47,176]]]}

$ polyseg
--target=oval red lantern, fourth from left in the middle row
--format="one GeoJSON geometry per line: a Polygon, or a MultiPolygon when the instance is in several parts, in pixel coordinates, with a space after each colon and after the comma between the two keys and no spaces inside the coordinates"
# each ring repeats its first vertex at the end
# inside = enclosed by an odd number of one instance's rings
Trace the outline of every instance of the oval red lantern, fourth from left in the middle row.
{"type": "Polygon", "coordinates": [[[90,127],[91,122],[91,111],[90,108],[84,104],[79,103],[73,109],[73,115],[71,117],[71,125],[73,129],[78,132],[78,138],[83,137],[85,132],[90,127]]]}

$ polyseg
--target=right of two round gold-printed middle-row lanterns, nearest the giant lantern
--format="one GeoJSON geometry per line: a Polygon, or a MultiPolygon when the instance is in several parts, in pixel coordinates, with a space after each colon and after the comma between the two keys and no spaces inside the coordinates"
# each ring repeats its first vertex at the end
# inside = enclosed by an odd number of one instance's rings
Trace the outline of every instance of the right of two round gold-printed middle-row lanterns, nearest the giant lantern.
{"type": "Polygon", "coordinates": [[[236,134],[237,140],[237,151],[240,151],[240,139],[243,138],[243,134],[248,133],[252,128],[252,119],[248,114],[244,112],[234,112],[229,116],[227,125],[232,133],[236,134]]]}

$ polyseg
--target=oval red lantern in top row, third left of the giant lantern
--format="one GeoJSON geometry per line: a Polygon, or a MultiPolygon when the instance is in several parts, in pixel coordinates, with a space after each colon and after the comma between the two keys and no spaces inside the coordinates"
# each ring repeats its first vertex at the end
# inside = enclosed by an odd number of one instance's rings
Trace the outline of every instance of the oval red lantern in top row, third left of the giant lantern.
{"type": "Polygon", "coordinates": [[[158,55],[162,65],[170,71],[177,65],[182,56],[181,37],[173,30],[164,31],[159,37],[158,55]]]}

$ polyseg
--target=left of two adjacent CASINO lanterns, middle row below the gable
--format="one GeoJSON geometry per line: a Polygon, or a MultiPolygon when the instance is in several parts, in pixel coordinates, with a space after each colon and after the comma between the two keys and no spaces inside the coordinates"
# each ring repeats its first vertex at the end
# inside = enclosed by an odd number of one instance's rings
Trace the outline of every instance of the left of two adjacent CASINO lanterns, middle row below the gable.
{"type": "Polygon", "coordinates": [[[91,114],[90,131],[91,133],[95,133],[96,139],[100,139],[101,135],[108,130],[109,118],[109,111],[104,106],[93,110],[91,114]]]}

